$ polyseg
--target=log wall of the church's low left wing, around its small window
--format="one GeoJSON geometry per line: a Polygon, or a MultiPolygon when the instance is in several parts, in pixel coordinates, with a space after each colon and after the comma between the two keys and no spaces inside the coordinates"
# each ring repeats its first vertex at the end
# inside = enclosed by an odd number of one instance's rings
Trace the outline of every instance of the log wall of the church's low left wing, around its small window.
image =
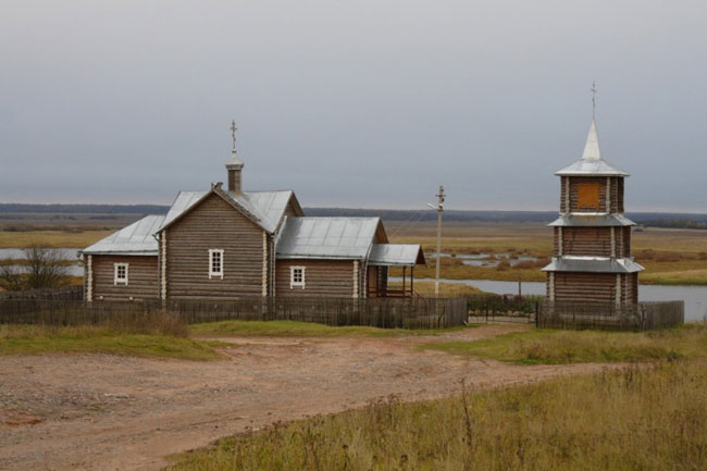
{"type": "Polygon", "coordinates": [[[92,300],[127,301],[154,299],[158,292],[156,256],[91,256],[92,300]],[[114,284],[114,263],[127,263],[127,285],[114,284]]]}

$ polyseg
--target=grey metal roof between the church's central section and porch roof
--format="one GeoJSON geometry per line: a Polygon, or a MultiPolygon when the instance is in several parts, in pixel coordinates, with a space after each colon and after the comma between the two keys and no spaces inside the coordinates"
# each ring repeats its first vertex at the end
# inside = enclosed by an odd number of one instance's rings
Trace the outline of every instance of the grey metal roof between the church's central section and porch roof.
{"type": "Polygon", "coordinates": [[[277,243],[277,258],[364,260],[379,218],[287,218],[277,243]]]}

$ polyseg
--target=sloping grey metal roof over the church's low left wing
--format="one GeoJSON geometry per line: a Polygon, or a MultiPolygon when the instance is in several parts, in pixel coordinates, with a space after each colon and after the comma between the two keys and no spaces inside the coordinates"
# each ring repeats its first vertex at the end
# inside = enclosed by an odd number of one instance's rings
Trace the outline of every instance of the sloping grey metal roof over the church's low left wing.
{"type": "Polygon", "coordinates": [[[146,215],[84,250],[79,250],[79,252],[87,255],[157,256],[157,240],[152,235],[162,226],[164,219],[164,215],[146,215]]]}

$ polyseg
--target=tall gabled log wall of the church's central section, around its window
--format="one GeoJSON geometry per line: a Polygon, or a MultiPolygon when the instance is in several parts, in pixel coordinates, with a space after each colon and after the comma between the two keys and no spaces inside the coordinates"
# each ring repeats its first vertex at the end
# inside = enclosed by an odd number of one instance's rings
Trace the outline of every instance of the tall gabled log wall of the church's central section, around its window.
{"type": "Polygon", "coordinates": [[[263,231],[218,195],[168,228],[168,299],[262,296],[263,231]],[[223,249],[223,280],[209,278],[209,249],[223,249]]]}

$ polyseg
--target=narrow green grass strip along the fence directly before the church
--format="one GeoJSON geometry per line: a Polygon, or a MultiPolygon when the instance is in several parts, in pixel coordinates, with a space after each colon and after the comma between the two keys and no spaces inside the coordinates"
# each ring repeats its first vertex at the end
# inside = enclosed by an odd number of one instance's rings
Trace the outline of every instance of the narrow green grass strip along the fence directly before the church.
{"type": "Polygon", "coordinates": [[[331,326],[296,321],[223,321],[189,326],[193,336],[273,336],[273,337],[398,337],[404,335],[438,335],[467,326],[449,329],[379,329],[364,326],[331,326]]]}

